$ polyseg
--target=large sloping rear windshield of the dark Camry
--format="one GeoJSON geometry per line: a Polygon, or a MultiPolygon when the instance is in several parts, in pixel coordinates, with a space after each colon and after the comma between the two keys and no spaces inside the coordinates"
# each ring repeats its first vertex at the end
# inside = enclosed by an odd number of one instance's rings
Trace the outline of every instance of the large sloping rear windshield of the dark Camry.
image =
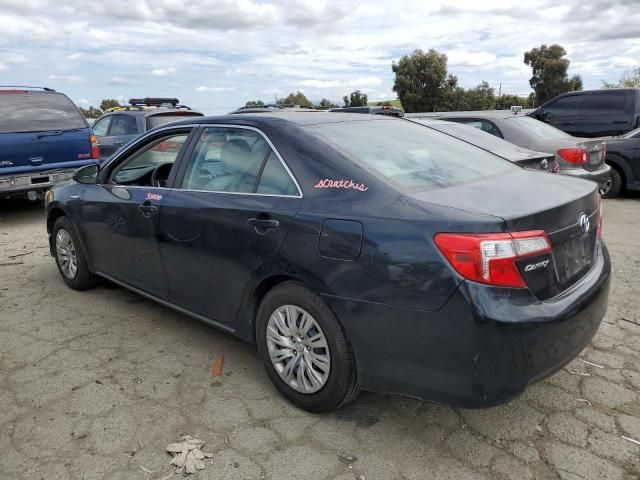
{"type": "Polygon", "coordinates": [[[309,131],[367,170],[409,190],[440,188],[515,171],[485,150],[404,120],[309,125],[309,131]]]}

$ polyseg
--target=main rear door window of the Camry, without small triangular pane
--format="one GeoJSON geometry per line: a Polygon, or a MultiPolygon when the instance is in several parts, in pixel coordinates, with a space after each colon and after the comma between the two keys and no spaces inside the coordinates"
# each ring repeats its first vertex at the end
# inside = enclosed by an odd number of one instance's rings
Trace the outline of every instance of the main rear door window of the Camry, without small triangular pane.
{"type": "Polygon", "coordinates": [[[182,181],[185,190],[255,192],[271,147],[259,133],[233,127],[204,130],[182,181]]]}

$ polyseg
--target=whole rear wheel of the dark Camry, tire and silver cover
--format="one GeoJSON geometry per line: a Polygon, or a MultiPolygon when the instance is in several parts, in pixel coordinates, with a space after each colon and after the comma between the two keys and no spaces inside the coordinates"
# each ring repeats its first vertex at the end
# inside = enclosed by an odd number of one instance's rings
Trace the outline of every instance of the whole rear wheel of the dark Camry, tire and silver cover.
{"type": "Polygon", "coordinates": [[[338,319],[300,283],[282,283],[265,296],[256,340],[271,381],[299,407],[326,412],[357,395],[355,359],[338,319]]]}

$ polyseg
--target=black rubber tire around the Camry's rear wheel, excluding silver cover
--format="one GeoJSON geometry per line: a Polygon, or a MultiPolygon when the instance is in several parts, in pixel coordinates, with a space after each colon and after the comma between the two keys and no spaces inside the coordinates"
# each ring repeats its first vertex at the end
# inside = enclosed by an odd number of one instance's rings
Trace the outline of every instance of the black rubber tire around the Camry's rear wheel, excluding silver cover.
{"type": "Polygon", "coordinates": [[[292,403],[310,412],[328,412],[353,400],[358,394],[356,362],[338,319],[320,296],[295,281],[287,281],[267,293],[256,318],[258,354],[276,388],[292,403]],[[271,362],[267,346],[267,325],[275,310],[294,305],[310,313],[329,345],[331,366],[326,382],[315,393],[301,393],[287,384],[271,362]]]}

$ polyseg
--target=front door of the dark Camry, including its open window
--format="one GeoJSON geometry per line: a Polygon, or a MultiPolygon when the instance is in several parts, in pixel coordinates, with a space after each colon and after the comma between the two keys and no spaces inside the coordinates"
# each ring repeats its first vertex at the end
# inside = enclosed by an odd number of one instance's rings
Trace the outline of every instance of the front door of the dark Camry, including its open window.
{"type": "MultiPolygon", "coordinates": [[[[169,189],[156,172],[177,168],[190,128],[167,129],[107,164],[98,183],[83,196],[81,229],[91,265],[98,273],[159,298],[167,279],[158,249],[158,213],[169,189]]],[[[172,174],[174,175],[174,174],[172,174]]]]}

